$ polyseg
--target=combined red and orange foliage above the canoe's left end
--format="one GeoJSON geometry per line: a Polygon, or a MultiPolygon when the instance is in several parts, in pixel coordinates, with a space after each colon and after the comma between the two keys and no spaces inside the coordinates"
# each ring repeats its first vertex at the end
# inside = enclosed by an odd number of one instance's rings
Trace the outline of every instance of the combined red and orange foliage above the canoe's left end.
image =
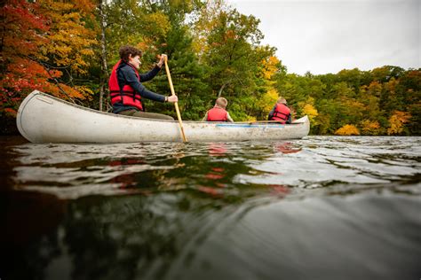
{"type": "MultiPolygon", "coordinates": [[[[3,30],[0,63],[0,113],[14,115],[23,97],[38,89],[57,97],[83,99],[81,91],[59,84],[67,92],[63,94],[52,79],[60,78],[58,70],[47,71],[38,61],[52,58],[53,65],[71,64],[75,72],[83,73],[87,66],[83,57],[93,54],[90,31],[83,27],[77,10],[91,12],[95,7],[90,0],[58,3],[41,0],[28,3],[25,0],[8,0],[0,12],[3,30]],[[60,11],[60,8],[68,10],[60,11]],[[56,8],[54,10],[53,8],[56,8]],[[55,12],[55,13],[54,13],[55,12]],[[71,40],[70,40],[71,38],[71,40]],[[71,42],[71,43],[66,43],[71,42]]],[[[86,90],[85,95],[90,95],[86,90]]]]}

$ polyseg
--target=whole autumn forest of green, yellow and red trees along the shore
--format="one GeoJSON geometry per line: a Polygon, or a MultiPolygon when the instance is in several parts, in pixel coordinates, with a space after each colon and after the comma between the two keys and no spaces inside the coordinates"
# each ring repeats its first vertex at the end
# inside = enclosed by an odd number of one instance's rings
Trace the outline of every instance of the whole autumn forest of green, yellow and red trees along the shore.
{"type": "MultiPolygon", "coordinates": [[[[223,0],[6,0],[0,17],[2,134],[35,89],[110,112],[108,76],[125,44],[143,51],[142,73],[168,55],[183,120],[201,120],[217,97],[234,121],[266,120],[285,97],[296,118],[309,116],[312,135],[421,134],[421,69],[289,73],[262,44],[260,19],[223,0]]],[[[171,95],[164,70],[144,85],[171,95]]],[[[174,106],[144,103],[176,116],[174,106]]]]}

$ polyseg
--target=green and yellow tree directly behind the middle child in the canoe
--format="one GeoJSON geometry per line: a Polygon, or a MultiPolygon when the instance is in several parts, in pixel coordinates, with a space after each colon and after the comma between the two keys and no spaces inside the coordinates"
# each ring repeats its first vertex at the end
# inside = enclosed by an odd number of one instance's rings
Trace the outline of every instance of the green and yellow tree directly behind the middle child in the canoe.
{"type": "MultiPolygon", "coordinates": [[[[247,99],[255,89],[254,74],[257,73],[258,52],[255,44],[261,39],[258,19],[246,17],[233,10],[218,13],[218,25],[207,38],[208,51],[203,54],[207,66],[207,83],[217,97],[234,97],[231,103],[233,118],[246,118],[246,111],[239,110],[238,100],[247,99]]],[[[247,102],[244,102],[247,104],[247,102]]],[[[250,104],[250,100],[249,100],[250,104]]]]}

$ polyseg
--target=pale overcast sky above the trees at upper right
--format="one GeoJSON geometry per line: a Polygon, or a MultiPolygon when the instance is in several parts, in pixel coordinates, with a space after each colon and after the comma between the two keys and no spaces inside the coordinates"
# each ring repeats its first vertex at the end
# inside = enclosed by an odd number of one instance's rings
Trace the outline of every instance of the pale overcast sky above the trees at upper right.
{"type": "Polygon", "coordinates": [[[289,73],[421,67],[420,0],[226,0],[261,20],[289,73]]]}

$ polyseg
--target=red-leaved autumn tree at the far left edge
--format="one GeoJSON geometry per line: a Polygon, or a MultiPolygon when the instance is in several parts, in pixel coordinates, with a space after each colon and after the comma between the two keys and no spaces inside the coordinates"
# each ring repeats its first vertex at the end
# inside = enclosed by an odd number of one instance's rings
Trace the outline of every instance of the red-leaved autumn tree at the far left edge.
{"type": "Polygon", "coordinates": [[[16,115],[20,101],[34,89],[45,89],[49,74],[36,62],[38,48],[48,41],[39,4],[10,0],[0,8],[0,94],[2,119],[16,115]]]}

